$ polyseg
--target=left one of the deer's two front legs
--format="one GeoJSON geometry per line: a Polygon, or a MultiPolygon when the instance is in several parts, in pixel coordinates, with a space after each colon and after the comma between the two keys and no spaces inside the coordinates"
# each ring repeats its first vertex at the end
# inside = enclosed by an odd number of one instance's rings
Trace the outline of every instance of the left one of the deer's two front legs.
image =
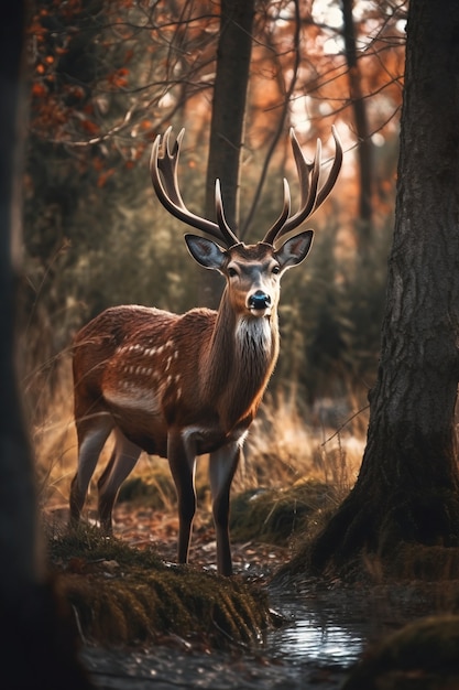
{"type": "Polygon", "coordinates": [[[167,459],[178,502],[178,563],[188,562],[189,539],[196,513],[195,465],[196,448],[189,438],[171,431],[167,439],[167,459]]]}

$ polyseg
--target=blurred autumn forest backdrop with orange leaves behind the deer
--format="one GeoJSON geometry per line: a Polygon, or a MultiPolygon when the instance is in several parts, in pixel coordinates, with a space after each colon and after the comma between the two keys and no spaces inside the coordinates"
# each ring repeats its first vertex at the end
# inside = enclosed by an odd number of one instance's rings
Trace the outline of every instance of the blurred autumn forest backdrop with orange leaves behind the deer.
{"type": "MultiPolygon", "coordinates": [[[[204,215],[220,10],[196,0],[35,2],[22,309],[34,406],[73,333],[103,308],[138,302],[181,312],[199,302],[201,273],[183,228],[154,198],[147,159],[157,133],[185,127],[181,188],[204,215]]],[[[327,159],[335,123],[347,151],[332,197],[314,219],[312,259],[283,287],[285,337],[272,387],[288,387],[310,407],[374,380],[404,13],[395,1],[254,2],[234,211],[247,241],[277,216],[284,175],[296,190],[291,126],[306,152],[320,137],[327,159]]],[[[221,157],[223,169],[223,148],[221,157]]]]}

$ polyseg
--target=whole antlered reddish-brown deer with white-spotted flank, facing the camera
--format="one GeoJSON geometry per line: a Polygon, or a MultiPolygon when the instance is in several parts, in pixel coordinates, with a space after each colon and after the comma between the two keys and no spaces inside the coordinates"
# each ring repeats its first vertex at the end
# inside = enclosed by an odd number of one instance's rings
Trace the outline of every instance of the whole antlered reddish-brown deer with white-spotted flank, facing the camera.
{"type": "Polygon", "coordinates": [[[113,434],[113,451],[97,482],[100,529],[112,533],[120,486],[141,452],[167,459],[177,494],[177,562],[186,564],[196,513],[196,462],[199,455],[208,455],[217,573],[229,576],[230,488],[280,352],[281,278],[309,252],[314,231],[297,228],[334,188],[342,147],[334,127],[334,162],[319,183],[320,140],[309,162],[291,130],[300,187],[298,211],[291,212],[289,185],[284,179],[281,215],[261,241],[245,245],[226,219],[219,180],[215,183],[216,220],[187,208],[177,177],[185,130],[174,144],[171,132],[170,127],[152,147],[154,192],[175,218],[205,235],[185,234],[187,249],[198,265],[221,273],[226,287],[217,311],[196,308],[175,314],[154,306],[111,306],[76,334],[78,463],[70,486],[69,525],[75,528],[80,520],[99,456],[113,434]]]}

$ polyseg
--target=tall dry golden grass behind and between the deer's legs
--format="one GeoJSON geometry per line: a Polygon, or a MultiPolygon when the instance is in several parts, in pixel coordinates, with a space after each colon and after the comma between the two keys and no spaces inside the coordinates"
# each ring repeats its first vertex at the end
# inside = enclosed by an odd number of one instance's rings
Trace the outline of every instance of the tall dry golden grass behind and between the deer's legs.
{"type": "MultiPolygon", "coordinates": [[[[69,360],[57,363],[54,378],[58,385],[54,393],[45,395],[46,380],[35,382],[40,399],[31,413],[32,444],[36,457],[40,505],[43,508],[65,506],[69,484],[77,466],[77,442],[73,418],[72,373],[69,360]]],[[[35,375],[40,378],[42,373],[35,375]]],[[[332,401],[331,401],[332,402],[332,401]]],[[[331,402],[325,401],[328,413],[331,402]]],[[[342,406],[342,400],[337,406],[342,406]]],[[[360,407],[349,397],[346,412],[350,418],[360,407]]],[[[338,408],[339,409],[339,408],[338,408]]],[[[253,423],[241,463],[234,477],[232,494],[237,495],[260,487],[285,489],[304,479],[317,479],[332,487],[337,503],[353,485],[364,448],[367,411],[343,425],[324,425],[320,413],[299,411],[297,405],[278,392],[266,398],[259,418],[253,423]]],[[[87,506],[94,506],[96,482],[110,455],[110,439],[103,450],[90,485],[87,506]]],[[[197,490],[199,508],[209,510],[210,497],[207,478],[207,459],[197,464],[197,490]]],[[[145,453],[124,483],[120,498],[132,499],[146,496],[149,503],[162,510],[176,510],[175,489],[164,459],[145,453]]]]}

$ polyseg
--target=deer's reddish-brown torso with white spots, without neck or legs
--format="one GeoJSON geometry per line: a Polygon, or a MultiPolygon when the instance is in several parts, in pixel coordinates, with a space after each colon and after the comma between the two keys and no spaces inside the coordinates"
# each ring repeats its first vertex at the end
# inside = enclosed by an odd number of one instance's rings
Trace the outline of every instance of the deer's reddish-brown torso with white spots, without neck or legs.
{"type": "Polygon", "coordinates": [[[77,419],[109,412],[141,448],[165,454],[167,429],[204,413],[199,367],[215,319],[205,309],[177,315],[132,305],[96,316],[74,343],[77,419]]]}

